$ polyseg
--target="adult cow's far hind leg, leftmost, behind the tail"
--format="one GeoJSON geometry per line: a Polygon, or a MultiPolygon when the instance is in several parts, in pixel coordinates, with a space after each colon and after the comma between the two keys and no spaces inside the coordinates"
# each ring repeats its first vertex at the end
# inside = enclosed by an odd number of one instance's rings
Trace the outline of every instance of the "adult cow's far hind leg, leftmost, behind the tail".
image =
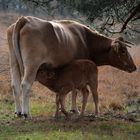
{"type": "Polygon", "coordinates": [[[7,30],[7,39],[9,45],[9,60],[10,60],[10,72],[11,72],[11,87],[13,91],[13,96],[15,100],[15,114],[17,116],[21,116],[21,104],[20,104],[20,83],[21,83],[21,75],[19,70],[19,65],[15,56],[15,52],[13,49],[12,43],[12,33],[13,33],[14,25],[10,26],[7,30]]]}

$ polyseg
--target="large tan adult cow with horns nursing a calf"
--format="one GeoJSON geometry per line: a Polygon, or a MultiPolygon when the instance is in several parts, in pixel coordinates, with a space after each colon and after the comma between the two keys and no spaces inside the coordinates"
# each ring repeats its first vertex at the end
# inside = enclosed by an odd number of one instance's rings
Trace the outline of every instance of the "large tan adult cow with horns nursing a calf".
{"type": "Polygon", "coordinates": [[[39,67],[57,68],[74,59],[90,59],[133,72],[136,66],[122,38],[112,39],[72,20],[46,21],[20,17],[7,30],[11,87],[18,116],[29,116],[29,92],[39,67]],[[22,107],[20,96],[22,93],[22,107]]]}

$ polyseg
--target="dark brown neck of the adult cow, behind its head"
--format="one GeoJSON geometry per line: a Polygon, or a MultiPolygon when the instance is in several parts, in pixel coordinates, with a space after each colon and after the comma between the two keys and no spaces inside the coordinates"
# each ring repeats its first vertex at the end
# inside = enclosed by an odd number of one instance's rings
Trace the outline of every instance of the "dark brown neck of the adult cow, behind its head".
{"type": "Polygon", "coordinates": [[[96,65],[110,65],[109,50],[112,40],[96,32],[90,32],[88,39],[90,57],[96,65]]]}

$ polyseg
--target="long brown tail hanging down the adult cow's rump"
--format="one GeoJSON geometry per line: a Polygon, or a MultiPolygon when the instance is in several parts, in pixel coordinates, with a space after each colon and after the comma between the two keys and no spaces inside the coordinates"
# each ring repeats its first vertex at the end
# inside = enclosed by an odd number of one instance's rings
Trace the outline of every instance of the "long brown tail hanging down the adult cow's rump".
{"type": "Polygon", "coordinates": [[[21,76],[23,76],[24,74],[24,66],[23,66],[23,60],[20,51],[20,30],[27,22],[28,20],[26,17],[20,17],[15,24],[13,35],[12,35],[13,47],[19,64],[21,76]]]}

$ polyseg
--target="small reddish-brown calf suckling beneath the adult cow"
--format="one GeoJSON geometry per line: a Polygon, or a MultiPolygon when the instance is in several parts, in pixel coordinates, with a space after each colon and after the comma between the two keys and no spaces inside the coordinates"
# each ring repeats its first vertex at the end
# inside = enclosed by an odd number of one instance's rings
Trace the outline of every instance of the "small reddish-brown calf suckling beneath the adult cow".
{"type": "Polygon", "coordinates": [[[59,105],[61,105],[61,111],[68,117],[68,112],[64,107],[65,96],[68,92],[76,89],[82,92],[83,104],[80,115],[83,116],[89,95],[87,85],[90,87],[95,102],[95,114],[98,115],[97,78],[98,70],[94,62],[90,60],[75,60],[67,66],[55,70],[48,70],[46,65],[42,65],[38,70],[36,80],[57,93],[55,116],[58,117],[59,105]]]}

